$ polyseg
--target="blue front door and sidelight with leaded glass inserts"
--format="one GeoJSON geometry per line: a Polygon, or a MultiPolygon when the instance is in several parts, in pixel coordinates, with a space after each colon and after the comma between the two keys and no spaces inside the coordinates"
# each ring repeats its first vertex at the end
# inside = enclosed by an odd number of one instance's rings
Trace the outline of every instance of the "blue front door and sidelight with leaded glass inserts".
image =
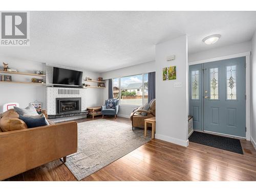
{"type": "Polygon", "coordinates": [[[196,117],[194,129],[245,137],[245,57],[190,66],[189,72],[189,112],[196,117]],[[193,78],[196,69],[199,86],[193,78]]]}

